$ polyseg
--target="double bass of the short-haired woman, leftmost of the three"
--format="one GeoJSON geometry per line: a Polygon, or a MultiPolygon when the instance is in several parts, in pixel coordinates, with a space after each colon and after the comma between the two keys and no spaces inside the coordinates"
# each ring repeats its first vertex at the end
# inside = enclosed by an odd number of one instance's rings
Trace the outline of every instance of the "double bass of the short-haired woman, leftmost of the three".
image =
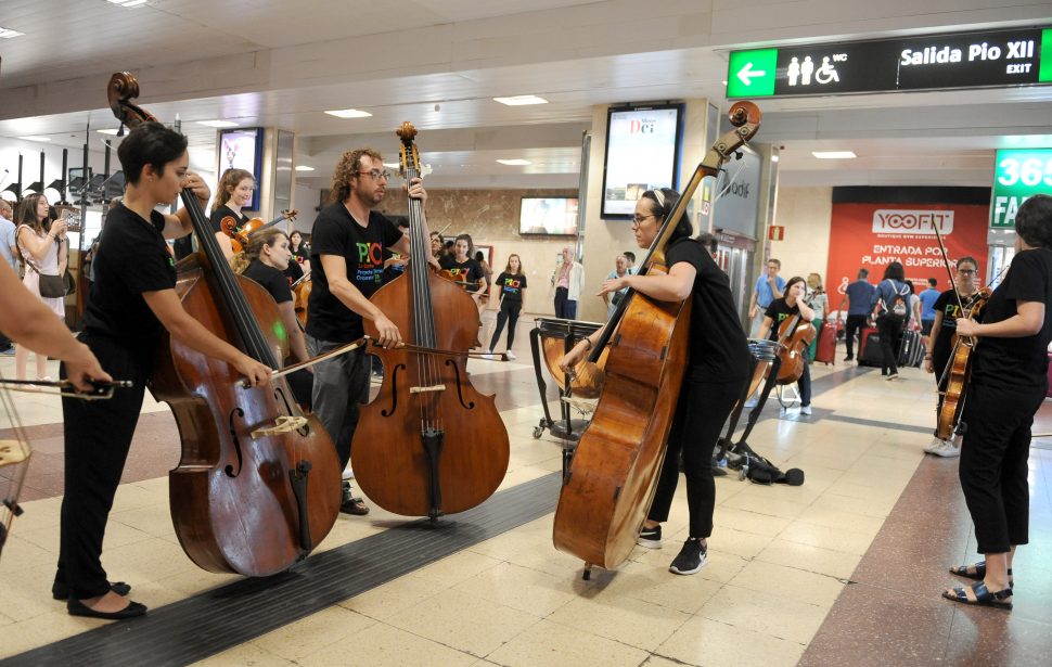
{"type": "MultiPolygon", "coordinates": [[[[155,120],[130,103],[139,94],[132,75],[114,74],[107,92],[121,124],[155,120]]],[[[281,318],[273,298],[231,270],[196,196],[187,190],[181,196],[201,245],[177,266],[183,308],[278,368],[281,318]]],[[[232,367],[177,341],[158,349],[150,390],[171,408],[182,442],[179,465],[168,474],[171,518],[183,551],[209,572],[287,569],[329,534],[339,511],[342,471],[332,439],[274,375],[267,385],[245,387],[232,367]]]]}

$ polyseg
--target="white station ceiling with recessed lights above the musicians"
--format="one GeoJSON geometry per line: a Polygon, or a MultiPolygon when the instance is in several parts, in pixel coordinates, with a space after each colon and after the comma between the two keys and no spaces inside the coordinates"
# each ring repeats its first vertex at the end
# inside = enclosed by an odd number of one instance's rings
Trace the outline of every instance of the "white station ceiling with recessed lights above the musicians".
{"type": "MultiPolygon", "coordinates": [[[[395,154],[421,129],[433,185],[577,185],[596,105],[708,98],[723,110],[730,48],[995,25],[1041,25],[1035,0],[0,0],[0,142],[43,134],[79,146],[116,127],[110,74],[139,77],[139,103],[177,116],[196,164],[214,163],[226,118],[298,136],[299,175],[328,183],[339,153],[395,154]],[[550,101],[508,107],[492,97],[550,101]],[[339,119],[326,108],[373,114],[339,119]],[[508,167],[498,158],[534,164],[508,167]]],[[[989,184],[992,152],[1052,145],[1052,87],[760,101],[757,138],[784,146],[785,184],[989,184]],[[812,150],[852,150],[818,161],[812,150]]],[[[100,136],[101,137],[101,136],[100,136]]]]}

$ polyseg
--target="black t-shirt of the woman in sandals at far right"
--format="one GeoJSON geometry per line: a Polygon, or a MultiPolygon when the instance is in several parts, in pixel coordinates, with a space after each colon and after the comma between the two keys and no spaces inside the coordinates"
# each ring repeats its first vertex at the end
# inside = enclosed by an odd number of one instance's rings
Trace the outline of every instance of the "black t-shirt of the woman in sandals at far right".
{"type": "MultiPolygon", "coordinates": [[[[108,232],[107,232],[108,233],[108,232]]],[[[975,347],[972,379],[976,383],[1012,388],[1048,385],[1049,342],[1052,341],[1052,251],[1023,251],[1012,259],[1012,269],[987,302],[986,324],[1016,315],[1018,302],[1044,304],[1044,324],[1037,335],[1022,338],[979,338],[975,347]]]]}

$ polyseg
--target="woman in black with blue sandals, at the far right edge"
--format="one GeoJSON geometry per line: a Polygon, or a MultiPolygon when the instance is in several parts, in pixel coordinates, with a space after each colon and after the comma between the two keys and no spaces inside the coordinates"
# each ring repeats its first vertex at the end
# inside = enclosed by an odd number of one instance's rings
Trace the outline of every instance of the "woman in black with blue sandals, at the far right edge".
{"type": "Polygon", "coordinates": [[[1052,342],[1052,196],[1028,198],[1015,216],[1012,269],[984,309],[983,323],[957,321],[977,337],[961,421],[961,489],[984,561],[950,572],[979,579],[942,597],[1012,608],[1012,560],[1029,531],[1030,425],[1048,390],[1052,342]]]}

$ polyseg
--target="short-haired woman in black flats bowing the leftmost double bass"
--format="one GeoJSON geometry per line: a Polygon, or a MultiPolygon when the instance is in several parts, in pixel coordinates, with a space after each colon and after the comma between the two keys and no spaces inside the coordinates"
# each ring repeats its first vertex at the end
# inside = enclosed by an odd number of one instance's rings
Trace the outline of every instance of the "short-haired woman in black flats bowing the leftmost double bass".
{"type": "MultiPolygon", "coordinates": [[[[116,389],[105,401],[62,399],[65,496],[59,568],[51,589],[56,600],[68,600],[69,614],[106,619],[146,612],[128,600],[130,586],[110,582],[101,555],[164,330],[175,341],[230,363],[254,385],[270,379],[270,369],[190,317],[176,294],[176,268],[165,239],[189,234],[192,223],[185,208],[172,216],[154,207],[172,202],[183,188],[202,203],[208,201],[208,187],[187,170],[187,138],[159,123],[143,123],[124,139],[117,156],[127,189],[123,205],[110,214],[94,259],[95,280],[80,341],[103,368],[134,385],[116,389]]],[[[64,364],[61,372],[65,377],[69,369],[64,364]]]]}

